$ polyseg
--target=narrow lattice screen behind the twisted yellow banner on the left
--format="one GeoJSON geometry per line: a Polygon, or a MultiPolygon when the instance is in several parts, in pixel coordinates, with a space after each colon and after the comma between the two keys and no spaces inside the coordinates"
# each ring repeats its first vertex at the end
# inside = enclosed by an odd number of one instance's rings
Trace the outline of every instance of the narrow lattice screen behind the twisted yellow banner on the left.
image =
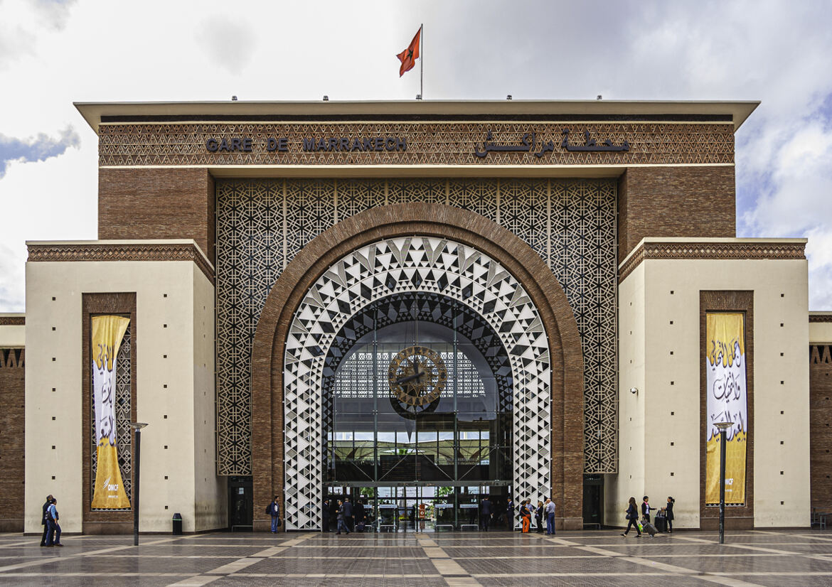
{"type": "MultiPolygon", "coordinates": [[[[132,324],[127,324],[127,330],[124,333],[124,338],[121,339],[121,347],[118,348],[118,355],[116,355],[116,451],[118,453],[118,466],[121,468],[121,484],[124,486],[124,492],[127,494],[127,499],[132,501],[132,451],[131,451],[131,331],[132,324]]],[[[90,375],[92,382],[92,374],[90,375]]],[[[92,383],[90,385],[90,422],[93,423],[88,431],[90,435],[90,496],[95,495],[96,471],[98,469],[98,451],[96,441],[96,404],[95,394],[92,391],[92,383]]],[[[129,511],[130,508],[125,508],[129,511]]],[[[98,511],[98,510],[93,510],[98,511]]],[[[113,510],[101,510],[113,511],[113,510]]]]}

